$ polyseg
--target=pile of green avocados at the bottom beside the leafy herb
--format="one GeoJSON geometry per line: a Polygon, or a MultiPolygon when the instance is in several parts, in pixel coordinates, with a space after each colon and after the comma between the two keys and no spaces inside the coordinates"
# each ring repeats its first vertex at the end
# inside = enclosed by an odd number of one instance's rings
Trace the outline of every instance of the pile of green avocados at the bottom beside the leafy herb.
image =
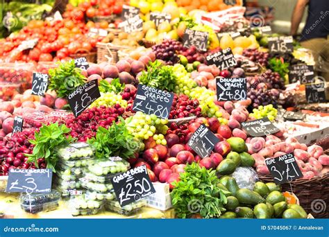
{"type": "Polygon", "coordinates": [[[219,179],[219,188],[229,191],[226,212],[220,218],[307,218],[307,213],[298,204],[287,204],[280,186],[273,182],[256,182],[253,191],[239,188],[233,177],[219,179]]]}

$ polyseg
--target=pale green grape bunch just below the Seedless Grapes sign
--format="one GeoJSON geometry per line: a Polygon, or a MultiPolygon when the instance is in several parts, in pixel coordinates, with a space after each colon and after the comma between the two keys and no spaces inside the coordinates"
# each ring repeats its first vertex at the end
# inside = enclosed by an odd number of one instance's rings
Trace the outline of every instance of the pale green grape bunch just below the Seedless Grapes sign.
{"type": "Polygon", "coordinates": [[[155,133],[166,134],[167,123],[167,119],[159,119],[155,114],[147,115],[140,111],[126,119],[128,131],[140,140],[149,139],[155,133]]]}

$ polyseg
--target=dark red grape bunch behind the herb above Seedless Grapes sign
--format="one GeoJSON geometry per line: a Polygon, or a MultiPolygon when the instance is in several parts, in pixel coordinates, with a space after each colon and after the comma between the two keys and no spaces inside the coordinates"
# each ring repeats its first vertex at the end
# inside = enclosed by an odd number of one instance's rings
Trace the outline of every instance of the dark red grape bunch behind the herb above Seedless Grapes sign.
{"type": "Polygon", "coordinates": [[[167,62],[168,65],[174,65],[179,61],[177,52],[183,48],[183,44],[176,40],[164,40],[161,44],[152,47],[155,57],[158,60],[167,62]]]}

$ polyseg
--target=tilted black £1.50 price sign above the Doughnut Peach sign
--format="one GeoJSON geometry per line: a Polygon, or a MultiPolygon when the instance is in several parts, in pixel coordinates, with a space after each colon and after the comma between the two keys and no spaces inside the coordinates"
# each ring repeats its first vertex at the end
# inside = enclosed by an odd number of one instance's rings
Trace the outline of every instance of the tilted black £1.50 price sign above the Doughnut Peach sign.
{"type": "Polygon", "coordinates": [[[235,60],[230,48],[212,53],[205,59],[207,60],[208,65],[215,64],[221,70],[225,70],[229,67],[234,67],[237,65],[237,60],[235,60]]]}

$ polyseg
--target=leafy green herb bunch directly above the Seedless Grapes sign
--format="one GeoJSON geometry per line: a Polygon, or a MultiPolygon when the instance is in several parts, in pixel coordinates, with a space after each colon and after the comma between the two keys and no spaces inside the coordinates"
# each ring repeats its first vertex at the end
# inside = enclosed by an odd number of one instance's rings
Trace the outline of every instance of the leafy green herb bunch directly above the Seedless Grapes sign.
{"type": "Polygon", "coordinates": [[[174,75],[173,67],[163,66],[161,62],[155,60],[150,62],[147,71],[142,72],[139,80],[140,83],[149,87],[173,91],[177,77],[174,75]]]}

